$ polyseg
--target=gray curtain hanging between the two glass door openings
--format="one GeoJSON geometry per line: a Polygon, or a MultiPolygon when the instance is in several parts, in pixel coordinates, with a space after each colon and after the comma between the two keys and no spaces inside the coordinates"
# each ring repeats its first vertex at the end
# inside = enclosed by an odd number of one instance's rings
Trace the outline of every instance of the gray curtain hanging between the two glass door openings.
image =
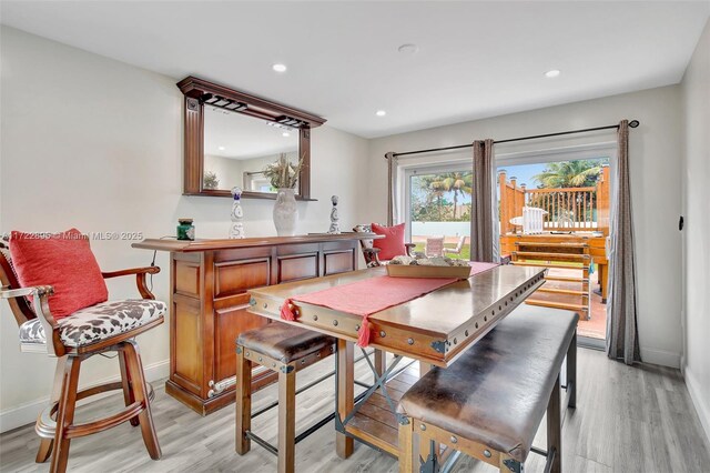
{"type": "Polygon", "coordinates": [[[470,259],[471,261],[495,262],[495,199],[493,140],[474,141],[474,192],[470,215],[470,259]]]}

